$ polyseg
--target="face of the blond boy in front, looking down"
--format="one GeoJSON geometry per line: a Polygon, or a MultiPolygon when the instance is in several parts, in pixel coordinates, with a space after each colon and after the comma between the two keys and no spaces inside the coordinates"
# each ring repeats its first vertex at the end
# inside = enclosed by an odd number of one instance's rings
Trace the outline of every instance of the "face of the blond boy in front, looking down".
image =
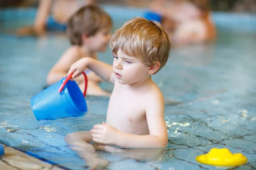
{"type": "Polygon", "coordinates": [[[117,51],[113,60],[113,72],[117,81],[122,84],[133,84],[146,80],[150,77],[148,67],[135,57],[130,57],[122,52],[117,51]]]}

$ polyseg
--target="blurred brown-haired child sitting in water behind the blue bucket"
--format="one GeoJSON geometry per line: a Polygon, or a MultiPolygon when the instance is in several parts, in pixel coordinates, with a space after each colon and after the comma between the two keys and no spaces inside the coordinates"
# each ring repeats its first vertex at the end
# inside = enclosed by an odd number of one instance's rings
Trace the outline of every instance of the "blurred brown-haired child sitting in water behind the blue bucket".
{"type": "MultiPolygon", "coordinates": [[[[97,52],[108,48],[111,38],[111,17],[99,6],[80,8],[69,20],[67,33],[72,46],[68,48],[47,76],[47,84],[52,85],[67,76],[70,66],[81,58],[97,59],[97,52]]],[[[102,81],[95,73],[85,70],[88,77],[88,95],[110,96],[99,87],[102,81]]],[[[77,77],[80,89],[84,89],[84,77],[77,77]]]]}

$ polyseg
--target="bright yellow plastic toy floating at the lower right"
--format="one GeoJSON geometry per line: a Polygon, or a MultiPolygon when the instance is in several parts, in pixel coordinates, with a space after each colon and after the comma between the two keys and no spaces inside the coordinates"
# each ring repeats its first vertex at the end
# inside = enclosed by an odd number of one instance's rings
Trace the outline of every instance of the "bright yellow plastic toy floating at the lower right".
{"type": "Polygon", "coordinates": [[[247,158],[243,154],[232,154],[227,148],[212,148],[208,154],[197,156],[195,160],[214,166],[239,166],[247,162],[247,158]]]}

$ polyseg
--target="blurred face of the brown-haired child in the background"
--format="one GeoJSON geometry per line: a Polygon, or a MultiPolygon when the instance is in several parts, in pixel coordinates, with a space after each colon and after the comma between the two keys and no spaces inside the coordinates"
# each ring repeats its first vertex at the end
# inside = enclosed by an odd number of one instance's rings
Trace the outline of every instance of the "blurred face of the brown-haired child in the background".
{"type": "Polygon", "coordinates": [[[104,28],[95,35],[88,37],[87,46],[93,51],[104,52],[108,48],[111,39],[111,28],[104,28]]]}

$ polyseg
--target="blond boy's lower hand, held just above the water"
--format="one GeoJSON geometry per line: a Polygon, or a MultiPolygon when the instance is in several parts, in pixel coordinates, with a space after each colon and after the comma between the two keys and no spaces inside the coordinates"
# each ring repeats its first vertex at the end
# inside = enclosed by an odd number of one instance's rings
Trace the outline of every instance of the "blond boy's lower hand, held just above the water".
{"type": "Polygon", "coordinates": [[[118,138],[119,131],[102,122],[102,124],[94,125],[91,130],[91,135],[93,136],[93,141],[103,143],[103,144],[115,144],[116,138],[118,138]]]}

